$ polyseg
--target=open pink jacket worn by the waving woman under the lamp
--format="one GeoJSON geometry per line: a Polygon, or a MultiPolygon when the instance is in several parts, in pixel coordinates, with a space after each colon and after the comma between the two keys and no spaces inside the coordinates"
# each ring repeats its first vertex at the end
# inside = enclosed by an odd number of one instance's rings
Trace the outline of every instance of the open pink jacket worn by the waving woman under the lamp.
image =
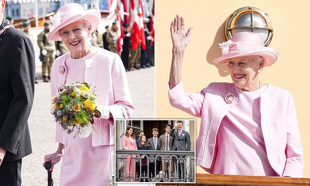
{"type": "MultiPolygon", "coordinates": [[[[217,130],[223,117],[238,101],[237,98],[232,103],[225,101],[225,96],[232,93],[232,86],[233,83],[211,83],[200,93],[185,93],[180,82],[169,90],[170,103],[173,107],[195,117],[201,117],[196,141],[196,164],[210,173],[213,173],[216,157],[214,149],[217,130]]],[[[260,96],[260,112],[271,167],[279,176],[302,177],[303,147],[291,93],[268,85],[267,91],[260,96]]],[[[246,156],[246,152],[244,155],[246,156]]]]}

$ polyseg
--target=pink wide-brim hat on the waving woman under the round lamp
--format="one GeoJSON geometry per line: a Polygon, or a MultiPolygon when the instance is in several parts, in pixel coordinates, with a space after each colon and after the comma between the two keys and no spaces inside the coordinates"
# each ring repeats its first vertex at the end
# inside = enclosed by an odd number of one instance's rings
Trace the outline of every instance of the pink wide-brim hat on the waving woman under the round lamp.
{"type": "Polygon", "coordinates": [[[278,51],[265,47],[260,35],[253,32],[236,33],[228,43],[230,44],[226,44],[227,48],[222,49],[223,56],[215,58],[213,63],[225,63],[226,59],[233,57],[262,56],[265,58],[264,67],[266,67],[275,63],[279,57],[278,51]]]}

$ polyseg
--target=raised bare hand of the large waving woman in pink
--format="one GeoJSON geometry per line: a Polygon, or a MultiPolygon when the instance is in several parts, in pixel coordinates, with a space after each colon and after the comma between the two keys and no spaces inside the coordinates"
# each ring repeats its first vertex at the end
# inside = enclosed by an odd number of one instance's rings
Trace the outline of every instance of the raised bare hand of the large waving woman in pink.
{"type": "Polygon", "coordinates": [[[187,33],[184,28],[184,18],[177,14],[170,26],[171,39],[174,48],[185,50],[186,46],[190,42],[193,28],[189,28],[187,33]]]}

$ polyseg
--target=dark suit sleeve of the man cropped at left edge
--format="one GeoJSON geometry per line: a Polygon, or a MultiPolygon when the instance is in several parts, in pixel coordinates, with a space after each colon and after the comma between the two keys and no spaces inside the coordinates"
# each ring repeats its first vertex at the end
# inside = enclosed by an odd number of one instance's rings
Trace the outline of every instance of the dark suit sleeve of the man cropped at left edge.
{"type": "Polygon", "coordinates": [[[10,59],[13,99],[0,132],[0,147],[16,154],[34,97],[35,54],[31,41],[19,37],[10,59]]]}

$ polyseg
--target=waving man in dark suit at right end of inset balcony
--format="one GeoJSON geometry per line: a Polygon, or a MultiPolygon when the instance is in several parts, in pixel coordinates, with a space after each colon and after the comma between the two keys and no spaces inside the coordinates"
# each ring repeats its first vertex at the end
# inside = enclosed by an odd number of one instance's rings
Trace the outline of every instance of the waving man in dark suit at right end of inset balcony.
{"type": "MultiPolygon", "coordinates": [[[[190,151],[191,150],[191,138],[187,131],[183,130],[183,122],[177,121],[174,123],[174,128],[170,131],[170,135],[174,137],[174,146],[172,150],[176,151],[190,151]]],[[[182,155],[181,155],[182,156],[182,155]]],[[[181,157],[178,155],[178,157],[181,157]]],[[[184,155],[183,155],[184,158],[184,155]]],[[[178,164],[178,176],[180,178],[185,178],[185,163],[179,163],[174,159],[175,166],[178,164]]]]}

